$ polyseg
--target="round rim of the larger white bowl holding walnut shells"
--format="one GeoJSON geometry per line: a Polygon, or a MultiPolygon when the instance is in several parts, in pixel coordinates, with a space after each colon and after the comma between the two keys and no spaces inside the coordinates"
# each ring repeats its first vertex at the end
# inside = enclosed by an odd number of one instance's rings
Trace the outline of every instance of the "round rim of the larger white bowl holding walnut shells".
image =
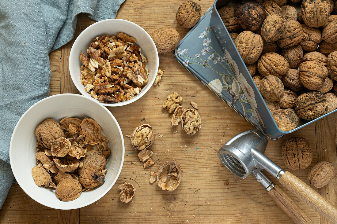
{"type": "MultiPolygon", "coordinates": [[[[50,99],[53,99],[53,98],[57,98],[57,97],[68,97],[68,96],[71,96],[71,97],[80,97],[80,98],[85,98],[85,99],[88,99],[88,97],[85,97],[83,95],[79,95],[79,94],[57,94],[57,95],[53,95],[53,96],[50,96],[50,97],[46,97],[38,102],[36,102],[35,104],[33,104],[31,107],[28,108],[28,110],[26,110],[26,112],[20,117],[18,123],[15,125],[14,127],[14,130],[13,130],[13,133],[12,133],[12,136],[11,136],[11,139],[10,139],[10,144],[9,144],[9,161],[11,161],[13,158],[13,154],[12,154],[12,142],[13,142],[13,136],[14,136],[14,133],[16,132],[17,128],[18,128],[18,124],[22,121],[24,115],[26,115],[28,113],[28,111],[30,111],[34,106],[40,104],[40,103],[43,103],[44,101],[47,101],[47,100],[50,100],[50,99]]],[[[89,200],[88,202],[86,203],[83,203],[79,206],[72,206],[72,207],[67,207],[67,208],[64,208],[64,207],[58,207],[58,206],[50,206],[49,204],[46,204],[42,201],[40,201],[38,198],[35,198],[34,196],[32,196],[30,194],[30,191],[27,190],[27,188],[25,187],[25,185],[20,181],[20,179],[17,179],[17,175],[16,175],[16,172],[13,170],[13,165],[12,163],[10,162],[10,167],[12,169],[12,172],[13,172],[13,175],[14,175],[14,178],[16,179],[16,181],[18,182],[19,186],[21,187],[21,189],[29,196],[31,197],[33,200],[37,201],[38,203],[46,206],[46,207],[49,207],[49,208],[53,208],[53,209],[60,209],[60,210],[70,210],[70,209],[79,209],[79,208],[83,208],[85,206],[88,206],[89,204],[92,204],[94,203],[95,201],[99,200],[101,197],[103,197],[106,193],[108,193],[108,191],[111,190],[111,188],[115,185],[120,173],[121,173],[121,170],[122,170],[122,167],[123,167],[123,163],[124,163],[124,154],[125,154],[125,147],[124,147],[124,138],[123,138],[123,134],[122,134],[122,130],[116,120],[116,118],[114,117],[114,115],[106,108],[104,107],[103,105],[99,104],[98,102],[95,102],[96,104],[98,104],[100,107],[102,107],[106,112],[109,112],[109,114],[111,115],[111,118],[116,122],[117,124],[117,127],[118,127],[118,131],[119,131],[119,134],[120,134],[120,138],[122,140],[122,160],[121,160],[121,165],[119,167],[119,170],[117,172],[117,175],[116,175],[116,178],[115,180],[113,181],[113,183],[111,184],[110,187],[108,187],[104,192],[102,192],[99,196],[89,200]]]]}

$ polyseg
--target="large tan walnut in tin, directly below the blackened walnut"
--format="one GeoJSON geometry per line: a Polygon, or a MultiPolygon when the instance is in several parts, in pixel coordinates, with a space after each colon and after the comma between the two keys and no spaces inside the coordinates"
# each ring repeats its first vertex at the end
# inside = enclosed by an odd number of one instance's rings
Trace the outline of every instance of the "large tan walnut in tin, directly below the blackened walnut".
{"type": "Polygon", "coordinates": [[[260,57],[263,49],[262,37],[251,31],[243,31],[235,39],[242,60],[247,64],[253,64],[260,57]]]}

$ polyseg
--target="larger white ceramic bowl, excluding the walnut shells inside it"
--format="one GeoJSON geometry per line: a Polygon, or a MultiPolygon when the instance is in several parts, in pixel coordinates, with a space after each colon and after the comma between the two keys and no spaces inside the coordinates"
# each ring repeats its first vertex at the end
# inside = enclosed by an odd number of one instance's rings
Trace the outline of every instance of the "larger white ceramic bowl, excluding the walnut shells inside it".
{"type": "Polygon", "coordinates": [[[122,131],[108,109],[87,97],[78,94],[59,94],[45,98],[31,106],[14,128],[9,147],[10,165],[20,187],[35,201],[54,209],[77,209],[101,198],[115,184],[124,161],[124,140],[122,131]],[[43,120],[63,117],[91,117],[102,128],[102,134],[109,138],[111,155],[106,162],[105,183],[97,188],[82,192],[73,201],[60,201],[55,189],[38,187],[32,177],[36,165],[35,128],[43,120]]]}

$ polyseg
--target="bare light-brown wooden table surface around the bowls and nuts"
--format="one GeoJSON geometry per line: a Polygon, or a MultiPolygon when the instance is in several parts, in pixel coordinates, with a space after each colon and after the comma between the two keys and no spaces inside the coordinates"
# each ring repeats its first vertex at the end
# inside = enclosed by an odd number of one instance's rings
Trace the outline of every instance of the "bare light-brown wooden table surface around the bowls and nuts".
{"type": "MultiPolygon", "coordinates": [[[[201,5],[203,13],[213,4],[213,0],[196,2],[201,5]]],[[[169,3],[127,0],[119,9],[117,18],[134,22],[150,34],[158,28],[171,27],[183,38],[189,30],[179,26],[175,20],[181,3],[182,0],[169,3]]],[[[75,37],[94,22],[86,14],[81,14],[75,37]]],[[[50,53],[50,95],[79,94],[68,69],[72,43],[50,53]]],[[[0,210],[0,223],[292,223],[255,179],[234,176],[222,165],[215,152],[220,145],[252,125],[181,66],[173,52],[160,55],[159,67],[166,70],[160,86],[152,86],[144,97],[132,104],[108,108],[119,122],[124,136],[130,135],[143,117],[152,125],[157,134],[151,147],[155,153],[153,166],[143,168],[137,151],[125,137],[122,172],[112,189],[97,202],[70,211],[51,209],[35,202],[18,184],[13,184],[0,210]],[[202,129],[193,137],[187,136],[180,126],[171,127],[170,114],[161,108],[166,96],[173,91],[183,97],[182,106],[188,107],[190,101],[199,105],[202,129]],[[163,137],[159,138],[159,134],[163,137]],[[184,175],[175,191],[166,192],[149,183],[150,171],[157,171],[161,163],[172,159],[181,165],[184,175]],[[136,164],[131,164],[134,161],[136,164]],[[124,178],[132,178],[134,181],[130,182],[136,187],[132,202],[127,204],[119,201],[117,189],[124,178]]],[[[270,140],[266,155],[286,168],[280,147],[285,139],[300,136],[305,137],[313,149],[309,168],[321,160],[332,161],[337,167],[335,116],[327,116],[279,140],[270,140]]],[[[307,183],[309,168],[293,173],[307,183]]],[[[275,178],[272,179],[277,183],[275,178]]],[[[314,223],[329,223],[283,186],[280,187],[314,223]]],[[[337,205],[336,178],[316,190],[337,205]]]]}

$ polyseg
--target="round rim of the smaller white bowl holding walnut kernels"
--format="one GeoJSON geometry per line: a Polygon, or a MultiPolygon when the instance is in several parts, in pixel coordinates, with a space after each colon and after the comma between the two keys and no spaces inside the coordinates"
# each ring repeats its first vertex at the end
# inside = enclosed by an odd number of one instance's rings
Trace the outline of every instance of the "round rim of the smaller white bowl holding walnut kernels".
{"type": "MultiPolygon", "coordinates": [[[[153,49],[154,49],[154,51],[155,51],[155,66],[154,66],[155,69],[154,69],[154,71],[159,69],[159,55],[158,55],[157,47],[156,47],[154,41],[152,40],[151,36],[149,35],[149,33],[146,32],[141,26],[139,26],[139,25],[137,25],[137,24],[135,24],[135,23],[133,23],[133,22],[131,22],[131,21],[123,20],[123,19],[117,19],[117,18],[101,20],[101,21],[98,21],[98,22],[96,22],[96,23],[94,23],[94,24],[91,24],[89,27],[87,27],[86,29],[84,29],[84,30],[79,34],[79,36],[75,39],[73,45],[71,46],[70,53],[69,53],[69,63],[68,63],[68,66],[69,66],[69,73],[70,73],[71,80],[72,80],[72,82],[74,83],[76,89],[78,89],[79,92],[80,92],[83,96],[85,96],[86,98],[89,98],[89,99],[91,99],[91,100],[94,100],[94,101],[96,101],[97,103],[99,103],[98,100],[92,98],[91,96],[86,96],[86,95],[83,94],[84,88],[79,89],[79,88],[76,86],[76,84],[75,84],[75,81],[76,81],[76,77],[75,77],[75,76],[76,76],[76,75],[74,74],[74,71],[72,71],[71,60],[70,60],[70,59],[73,58],[73,57],[75,56],[75,55],[73,55],[73,54],[74,54],[73,46],[75,45],[75,43],[77,43],[77,42],[80,41],[80,39],[81,39],[82,36],[85,35],[85,31],[88,31],[89,29],[91,29],[91,28],[94,27],[94,26],[97,26],[97,25],[100,24],[100,23],[109,23],[109,22],[111,22],[111,21],[120,21],[120,22],[122,22],[122,23],[132,24],[132,25],[136,26],[137,28],[139,28],[139,29],[140,29],[140,30],[141,30],[141,31],[142,31],[142,32],[149,38],[150,44],[152,45],[152,47],[153,47],[153,49]]],[[[100,102],[99,104],[104,105],[104,106],[106,106],[106,107],[119,107],[119,106],[125,106],[125,105],[128,105],[128,104],[132,103],[132,102],[135,102],[136,100],[138,100],[138,99],[140,99],[142,96],[144,96],[144,95],[146,94],[147,91],[150,90],[150,88],[152,87],[152,85],[153,85],[153,83],[154,83],[154,81],[155,81],[155,77],[156,77],[156,74],[155,74],[155,76],[152,78],[152,80],[150,80],[150,81],[146,84],[146,85],[150,85],[150,87],[149,87],[148,89],[145,89],[145,90],[142,89],[142,91],[141,91],[139,94],[137,94],[135,97],[131,98],[130,100],[126,100],[126,101],[122,101],[122,102],[118,102],[118,103],[104,103],[104,102],[100,102]]],[[[83,87],[84,87],[84,86],[83,86],[83,87]]],[[[86,93],[87,93],[87,92],[86,92],[86,93]]]]}

